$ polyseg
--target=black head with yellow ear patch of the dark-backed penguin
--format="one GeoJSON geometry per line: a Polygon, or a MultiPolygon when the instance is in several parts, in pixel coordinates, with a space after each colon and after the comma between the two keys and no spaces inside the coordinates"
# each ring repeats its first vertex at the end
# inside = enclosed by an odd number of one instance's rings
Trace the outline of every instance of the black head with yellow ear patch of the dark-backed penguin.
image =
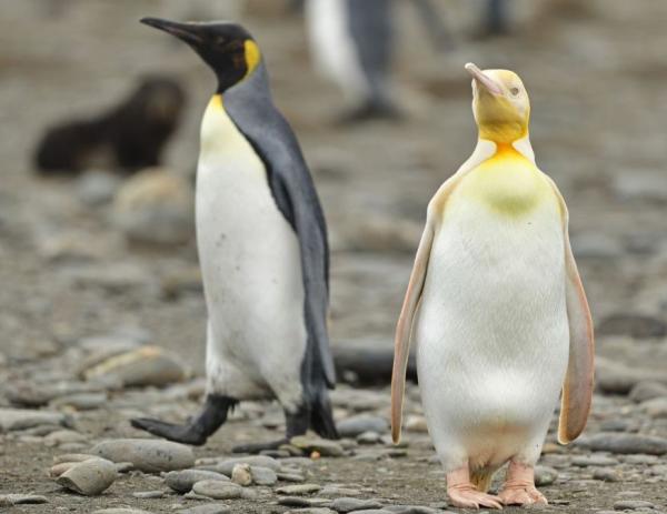
{"type": "Polygon", "coordinates": [[[169,32],[188,43],[216,72],[219,93],[250,75],[261,61],[259,47],[237,23],[180,23],[159,18],[142,18],[141,23],[169,32]]]}

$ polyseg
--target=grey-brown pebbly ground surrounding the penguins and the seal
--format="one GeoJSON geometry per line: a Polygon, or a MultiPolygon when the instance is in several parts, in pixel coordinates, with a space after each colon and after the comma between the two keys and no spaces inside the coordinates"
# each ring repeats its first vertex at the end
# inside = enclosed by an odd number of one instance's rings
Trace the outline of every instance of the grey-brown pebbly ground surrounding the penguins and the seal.
{"type": "MultiPolygon", "coordinates": [[[[336,349],[391,347],[425,205],[474,145],[462,64],[521,73],[538,164],[568,201],[598,334],[589,426],[568,447],[550,433],[538,475],[551,504],[535,511],[667,512],[664,2],[517,1],[515,36],[495,40],[470,36],[474,2],[442,2],[458,41],[445,56],[404,6],[397,78],[406,120],[349,129],[330,123],[340,98],[311,71],[302,21],[279,2],[255,0],[240,14],[232,3],[0,4],[0,508],[454,511],[417,386],[398,447],[388,442],[387,387],[349,384],[334,393],[345,435],[337,443],[307,439],[231,462],[235,444],[282,431],[276,405],[252,403],[202,449],[125,441],[145,436],[132,416],[182,420],[199,405],[206,313],[195,246],[128,241],[119,219],[135,211],[119,190],[130,194],[136,183],[100,173],[39,179],[31,149],[47,124],[110,105],[146,72],[171,72],[189,107],[166,159],[171,174],[159,180],[188,191],[212,79],[188,49],[137,19],[238,14],[265,48],[277,102],[321,193],[336,349]]],[[[179,198],[175,239],[191,200],[179,198]]]]}

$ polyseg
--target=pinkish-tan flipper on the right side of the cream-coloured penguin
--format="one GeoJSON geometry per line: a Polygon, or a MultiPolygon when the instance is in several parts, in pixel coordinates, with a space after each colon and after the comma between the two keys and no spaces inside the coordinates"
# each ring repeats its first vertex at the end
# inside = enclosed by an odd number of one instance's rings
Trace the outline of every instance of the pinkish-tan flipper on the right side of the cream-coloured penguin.
{"type": "Polygon", "coordinates": [[[567,444],[576,440],[584,431],[590,411],[595,371],[595,342],[590,309],[588,308],[586,292],[581,284],[569,241],[567,205],[552,181],[551,185],[560,202],[565,238],[565,286],[570,341],[569,361],[560,401],[558,441],[561,444],[567,444]]]}

